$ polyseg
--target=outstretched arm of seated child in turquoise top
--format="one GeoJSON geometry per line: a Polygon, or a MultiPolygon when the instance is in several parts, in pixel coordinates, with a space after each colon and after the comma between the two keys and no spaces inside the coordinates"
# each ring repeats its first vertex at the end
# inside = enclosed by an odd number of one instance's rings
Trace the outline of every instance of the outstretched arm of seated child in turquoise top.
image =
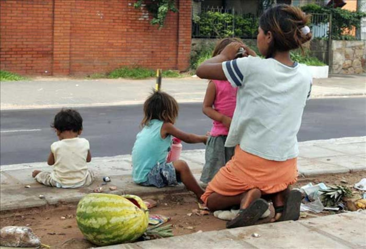
{"type": "Polygon", "coordinates": [[[165,138],[168,134],[170,134],[188,144],[206,144],[207,141],[207,136],[185,133],[184,131],[177,129],[172,123],[164,123],[161,127],[160,134],[162,138],[165,138]]]}

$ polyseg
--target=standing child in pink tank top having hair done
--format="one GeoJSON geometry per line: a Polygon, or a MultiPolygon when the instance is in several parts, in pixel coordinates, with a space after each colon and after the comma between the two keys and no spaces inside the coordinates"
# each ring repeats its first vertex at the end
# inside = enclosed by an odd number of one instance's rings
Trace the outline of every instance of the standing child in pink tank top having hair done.
{"type": "MultiPolygon", "coordinates": [[[[218,55],[231,42],[242,42],[237,38],[225,38],[219,41],[212,57],[218,55]]],[[[236,105],[236,91],[228,81],[212,80],[208,83],[203,113],[213,120],[212,129],[206,142],[205,165],[201,181],[208,183],[221,167],[234,155],[234,147],[225,147],[231,118],[236,105]]]]}

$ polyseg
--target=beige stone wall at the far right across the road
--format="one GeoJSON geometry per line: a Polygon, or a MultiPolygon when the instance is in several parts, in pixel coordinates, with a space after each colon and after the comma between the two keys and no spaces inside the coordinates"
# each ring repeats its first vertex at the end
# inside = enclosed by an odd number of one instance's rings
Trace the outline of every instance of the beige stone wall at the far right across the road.
{"type": "Polygon", "coordinates": [[[333,74],[361,74],[366,71],[366,41],[332,41],[333,74]]]}

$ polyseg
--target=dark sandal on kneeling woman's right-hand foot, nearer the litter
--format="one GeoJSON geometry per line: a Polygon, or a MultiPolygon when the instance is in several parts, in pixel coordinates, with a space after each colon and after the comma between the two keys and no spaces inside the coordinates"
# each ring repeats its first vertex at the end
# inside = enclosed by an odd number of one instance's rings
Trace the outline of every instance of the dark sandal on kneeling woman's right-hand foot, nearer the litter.
{"type": "Polygon", "coordinates": [[[300,218],[301,193],[298,190],[291,190],[287,194],[284,206],[275,207],[276,213],[282,213],[276,222],[285,220],[298,220],[300,218]]]}

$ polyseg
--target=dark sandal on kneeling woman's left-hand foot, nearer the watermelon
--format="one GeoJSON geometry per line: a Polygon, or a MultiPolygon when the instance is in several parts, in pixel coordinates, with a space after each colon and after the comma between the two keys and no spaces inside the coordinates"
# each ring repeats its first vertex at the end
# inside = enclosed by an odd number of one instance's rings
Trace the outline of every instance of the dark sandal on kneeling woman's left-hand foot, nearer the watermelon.
{"type": "Polygon", "coordinates": [[[248,208],[240,209],[234,220],[226,223],[226,228],[252,226],[268,209],[268,202],[263,199],[253,201],[248,208]]]}

